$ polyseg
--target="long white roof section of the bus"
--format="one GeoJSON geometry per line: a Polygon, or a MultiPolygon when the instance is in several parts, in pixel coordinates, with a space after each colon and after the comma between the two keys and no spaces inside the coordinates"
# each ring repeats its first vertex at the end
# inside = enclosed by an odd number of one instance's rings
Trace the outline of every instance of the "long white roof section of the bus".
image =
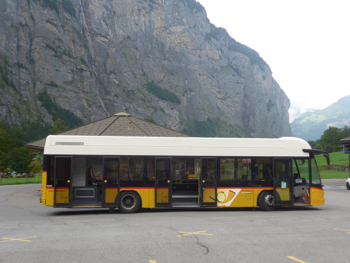
{"type": "Polygon", "coordinates": [[[308,157],[299,138],[202,138],[49,135],[44,154],[103,156],[274,156],[308,157]]]}

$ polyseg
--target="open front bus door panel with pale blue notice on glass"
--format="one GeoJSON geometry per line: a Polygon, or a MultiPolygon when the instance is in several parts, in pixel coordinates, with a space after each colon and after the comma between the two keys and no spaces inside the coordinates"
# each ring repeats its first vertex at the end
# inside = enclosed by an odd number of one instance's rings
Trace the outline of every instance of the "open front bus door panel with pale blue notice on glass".
{"type": "Polygon", "coordinates": [[[293,204],[292,159],[273,158],[273,189],[275,205],[293,204]]]}

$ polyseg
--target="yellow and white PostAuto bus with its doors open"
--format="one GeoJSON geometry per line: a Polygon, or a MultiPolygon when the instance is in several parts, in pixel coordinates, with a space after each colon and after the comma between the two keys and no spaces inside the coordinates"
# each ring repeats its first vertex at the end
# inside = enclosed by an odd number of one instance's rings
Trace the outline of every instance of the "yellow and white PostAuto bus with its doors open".
{"type": "Polygon", "coordinates": [[[298,138],[50,135],[41,203],[66,208],[324,204],[314,153],[298,138]]]}

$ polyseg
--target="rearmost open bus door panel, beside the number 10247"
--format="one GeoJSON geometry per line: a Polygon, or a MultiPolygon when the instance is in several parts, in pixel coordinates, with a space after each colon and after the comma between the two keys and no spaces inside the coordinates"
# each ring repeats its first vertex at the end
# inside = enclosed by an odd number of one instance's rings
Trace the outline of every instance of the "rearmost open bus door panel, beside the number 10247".
{"type": "Polygon", "coordinates": [[[72,156],[55,156],[54,207],[70,207],[72,156]]]}

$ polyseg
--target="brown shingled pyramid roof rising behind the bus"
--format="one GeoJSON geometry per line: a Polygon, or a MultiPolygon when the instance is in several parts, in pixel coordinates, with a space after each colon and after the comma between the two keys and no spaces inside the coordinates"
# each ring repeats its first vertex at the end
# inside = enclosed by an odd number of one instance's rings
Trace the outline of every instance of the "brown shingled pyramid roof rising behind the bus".
{"type": "MultiPolygon", "coordinates": [[[[193,137],[124,112],[62,131],[56,135],[193,137]]],[[[30,150],[43,151],[45,141],[46,137],[29,142],[25,147],[30,150]]]]}

